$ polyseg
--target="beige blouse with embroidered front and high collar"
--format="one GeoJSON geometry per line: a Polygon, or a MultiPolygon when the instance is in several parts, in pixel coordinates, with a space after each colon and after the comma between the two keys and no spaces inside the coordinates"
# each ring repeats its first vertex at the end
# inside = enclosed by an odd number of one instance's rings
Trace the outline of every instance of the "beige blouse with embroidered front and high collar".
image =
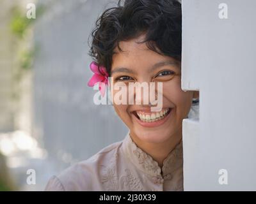
{"type": "Polygon", "coordinates": [[[128,132],[121,142],[53,176],[45,191],[183,191],[182,158],[181,141],[161,169],[128,132]]]}

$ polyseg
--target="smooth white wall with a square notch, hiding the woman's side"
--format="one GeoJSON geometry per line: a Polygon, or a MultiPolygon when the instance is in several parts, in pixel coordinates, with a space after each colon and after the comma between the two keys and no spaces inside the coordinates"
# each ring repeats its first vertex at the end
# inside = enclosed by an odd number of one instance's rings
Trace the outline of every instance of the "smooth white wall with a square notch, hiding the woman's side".
{"type": "Polygon", "coordinates": [[[182,89],[200,91],[200,120],[183,121],[185,191],[256,190],[255,8],[182,0],[182,89]]]}

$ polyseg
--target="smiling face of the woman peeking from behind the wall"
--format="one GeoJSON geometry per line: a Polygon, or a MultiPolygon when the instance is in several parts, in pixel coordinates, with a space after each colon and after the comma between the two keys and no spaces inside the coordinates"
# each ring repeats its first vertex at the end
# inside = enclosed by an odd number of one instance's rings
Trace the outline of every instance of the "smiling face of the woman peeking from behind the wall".
{"type": "MultiPolygon", "coordinates": [[[[118,52],[116,48],[111,77],[114,85],[124,82],[127,87],[129,82],[163,83],[163,108],[159,112],[150,112],[150,106],[143,104],[143,91],[141,105],[136,105],[136,102],[134,105],[116,105],[115,101],[113,105],[118,116],[130,129],[131,135],[142,142],[167,142],[173,135],[181,133],[182,119],[188,116],[192,98],[198,98],[198,92],[182,91],[180,62],[149,50],[145,43],[136,43],[142,38],[143,36],[140,36],[134,40],[120,42],[120,48],[125,52],[118,52]],[[154,66],[157,63],[159,66],[154,66]]],[[[117,92],[120,93],[120,90],[113,91],[114,98],[117,92]]]]}

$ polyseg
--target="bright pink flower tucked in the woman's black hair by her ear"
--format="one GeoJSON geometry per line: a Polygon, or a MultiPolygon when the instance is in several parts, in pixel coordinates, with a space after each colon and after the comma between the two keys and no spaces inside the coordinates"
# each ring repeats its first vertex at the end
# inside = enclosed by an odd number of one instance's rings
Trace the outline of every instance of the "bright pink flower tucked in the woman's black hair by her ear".
{"type": "Polygon", "coordinates": [[[91,62],[90,68],[93,71],[93,76],[88,82],[89,87],[93,87],[95,84],[99,83],[100,95],[104,97],[106,86],[108,85],[108,72],[104,66],[99,66],[97,62],[91,62]],[[98,69],[99,67],[99,69],[98,69]]]}

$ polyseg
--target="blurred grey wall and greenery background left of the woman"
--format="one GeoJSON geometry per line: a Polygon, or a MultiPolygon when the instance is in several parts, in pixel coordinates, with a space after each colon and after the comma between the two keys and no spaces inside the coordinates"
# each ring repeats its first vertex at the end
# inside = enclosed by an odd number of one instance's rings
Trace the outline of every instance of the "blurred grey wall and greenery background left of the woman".
{"type": "Polygon", "coordinates": [[[87,86],[88,37],[116,2],[0,0],[0,191],[42,191],[52,175],[124,138],[113,106],[95,105],[87,86]]]}

